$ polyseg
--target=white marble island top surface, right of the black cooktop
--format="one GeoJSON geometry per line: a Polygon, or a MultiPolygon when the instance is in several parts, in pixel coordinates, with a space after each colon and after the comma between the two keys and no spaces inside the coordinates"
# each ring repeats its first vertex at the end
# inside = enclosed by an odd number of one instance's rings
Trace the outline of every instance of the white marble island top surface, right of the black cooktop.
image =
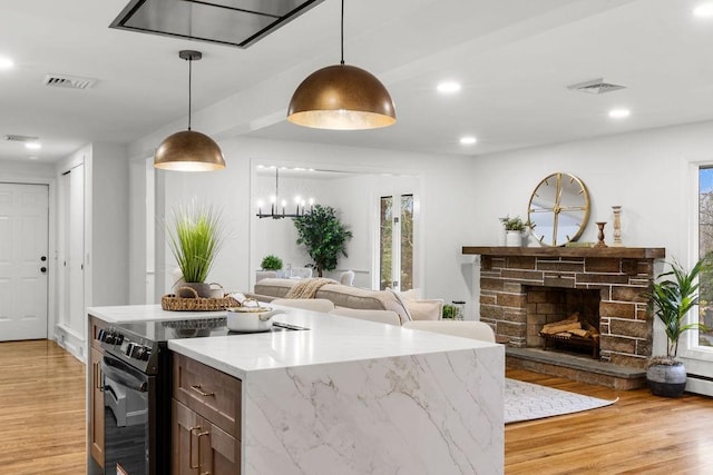
{"type": "Polygon", "coordinates": [[[174,339],[168,348],[244,379],[253,372],[320,364],[422,355],[500,345],[404,329],[297,308],[275,321],[310,328],[208,338],[174,339]]]}

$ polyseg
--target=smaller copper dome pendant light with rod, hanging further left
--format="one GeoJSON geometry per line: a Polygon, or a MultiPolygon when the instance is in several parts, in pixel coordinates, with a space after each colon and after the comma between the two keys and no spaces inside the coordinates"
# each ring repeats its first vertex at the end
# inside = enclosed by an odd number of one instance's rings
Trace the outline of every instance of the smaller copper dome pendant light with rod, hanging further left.
{"type": "Polygon", "coordinates": [[[221,147],[205,133],[191,130],[192,62],[203,57],[199,51],[182,50],[180,59],[188,61],[188,130],[166,137],[158,146],[154,167],[163,170],[211,171],[225,168],[221,147]]]}

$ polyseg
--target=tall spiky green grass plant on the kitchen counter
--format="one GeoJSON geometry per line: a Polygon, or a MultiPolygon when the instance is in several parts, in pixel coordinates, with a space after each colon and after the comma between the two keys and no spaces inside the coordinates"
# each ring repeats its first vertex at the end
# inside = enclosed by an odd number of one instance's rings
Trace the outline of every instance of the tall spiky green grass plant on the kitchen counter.
{"type": "Polygon", "coordinates": [[[206,279],[223,245],[221,224],[221,214],[212,206],[192,201],[172,210],[168,245],[183,275],[180,285],[195,289],[199,297],[212,294],[206,279]]]}

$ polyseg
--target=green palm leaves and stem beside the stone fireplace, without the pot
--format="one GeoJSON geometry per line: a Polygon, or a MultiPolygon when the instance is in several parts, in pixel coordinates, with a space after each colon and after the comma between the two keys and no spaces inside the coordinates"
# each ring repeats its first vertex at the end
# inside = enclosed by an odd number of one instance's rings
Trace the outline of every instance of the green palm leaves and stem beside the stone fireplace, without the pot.
{"type": "Polygon", "coordinates": [[[700,259],[687,273],[675,260],[670,266],[670,271],[656,278],[657,281],[653,284],[648,296],[654,304],[654,315],[664,324],[666,330],[666,358],[673,362],[678,352],[681,335],[691,329],[705,331],[707,328],[700,321],[686,323],[687,313],[699,305],[697,277],[704,266],[704,259],[700,259]]]}

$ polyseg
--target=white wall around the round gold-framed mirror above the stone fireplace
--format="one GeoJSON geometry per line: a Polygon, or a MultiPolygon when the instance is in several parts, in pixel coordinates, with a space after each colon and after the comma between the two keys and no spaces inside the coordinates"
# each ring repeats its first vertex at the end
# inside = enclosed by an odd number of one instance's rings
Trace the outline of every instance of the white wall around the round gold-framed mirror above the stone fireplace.
{"type": "MultiPolygon", "coordinates": [[[[472,198],[480,222],[473,245],[497,243],[498,217],[527,216],[529,197],[540,179],[555,171],[579,177],[592,199],[589,224],[579,240],[596,241],[595,221],[607,221],[621,205],[622,239],[629,247],[665,247],[667,259],[690,263],[695,194],[691,164],[713,162],[713,122],[559,144],[481,156],[472,162],[472,198]]],[[[655,331],[654,353],[665,339],[655,331]]]]}

